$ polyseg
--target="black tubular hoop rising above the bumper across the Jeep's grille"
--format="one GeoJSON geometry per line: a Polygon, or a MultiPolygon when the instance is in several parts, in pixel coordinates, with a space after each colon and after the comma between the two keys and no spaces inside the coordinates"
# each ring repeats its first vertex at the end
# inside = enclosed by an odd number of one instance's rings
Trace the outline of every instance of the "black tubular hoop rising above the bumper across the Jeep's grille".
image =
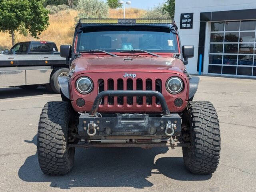
{"type": "Polygon", "coordinates": [[[168,109],[164,96],[158,91],[130,91],[130,90],[115,90],[115,91],[102,91],[100,92],[92,105],[90,116],[96,116],[100,101],[105,96],[155,96],[160,101],[164,116],[170,116],[170,110],[168,109]]]}

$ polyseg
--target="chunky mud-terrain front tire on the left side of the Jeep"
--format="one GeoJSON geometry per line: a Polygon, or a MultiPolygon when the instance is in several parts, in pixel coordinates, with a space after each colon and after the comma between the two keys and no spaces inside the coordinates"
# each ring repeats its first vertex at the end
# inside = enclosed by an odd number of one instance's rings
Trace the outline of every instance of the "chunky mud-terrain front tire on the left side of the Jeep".
{"type": "Polygon", "coordinates": [[[68,147],[69,102],[48,102],[38,125],[37,153],[44,174],[63,175],[74,165],[75,148],[68,147]]]}

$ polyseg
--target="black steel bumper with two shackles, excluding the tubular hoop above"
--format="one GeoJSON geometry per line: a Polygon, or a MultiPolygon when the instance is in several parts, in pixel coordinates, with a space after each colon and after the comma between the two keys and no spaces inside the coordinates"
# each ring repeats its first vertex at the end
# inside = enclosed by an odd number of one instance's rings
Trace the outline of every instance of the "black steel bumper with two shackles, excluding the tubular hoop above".
{"type": "Polygon", "coordinates": [[[78,124],[80,137],[91,139],[110,136],[127,136],[125,138],[132,139],[135,135],[161,139],[179,136],[180,133],[181,117],[178,114],[102,114],[102,117],[81,114],[78,124]]]}

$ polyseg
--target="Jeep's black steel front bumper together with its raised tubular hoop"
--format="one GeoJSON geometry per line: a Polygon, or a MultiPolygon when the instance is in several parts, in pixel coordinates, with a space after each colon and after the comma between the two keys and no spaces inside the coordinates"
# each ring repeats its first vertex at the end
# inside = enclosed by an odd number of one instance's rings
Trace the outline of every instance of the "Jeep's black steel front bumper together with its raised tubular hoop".
{"type": "Polygon", "coordinates": [[[102,138],[108,136],[140,135],[141,138],[178,136],[181,133],[181,117],[170,113],[164,96],[158,91],[109,90],[96,96],[90,113],[80,114],[78,134],[81,137],[102,138]],[[162,114],[104,113],[98,116],[100,101],[105,96],[155,96],[160,101],[162,114]]]}

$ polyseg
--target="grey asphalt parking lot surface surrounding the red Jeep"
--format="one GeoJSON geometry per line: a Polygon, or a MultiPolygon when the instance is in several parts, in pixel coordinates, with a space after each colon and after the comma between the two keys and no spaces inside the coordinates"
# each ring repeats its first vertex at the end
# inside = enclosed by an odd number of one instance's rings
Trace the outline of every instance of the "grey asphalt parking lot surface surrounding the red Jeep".
{"type": "Polygon", "coordinates": [[[0,190],[256,190],[256,80],[201,76],[194,100],[211,101],[221,127],[221,159],[210,175],[190,174],[182,149],[77,149],[66,176],[42,174],[36,154],[44,104],[60,101],[44,88],[0,88],[0,190]]]}

